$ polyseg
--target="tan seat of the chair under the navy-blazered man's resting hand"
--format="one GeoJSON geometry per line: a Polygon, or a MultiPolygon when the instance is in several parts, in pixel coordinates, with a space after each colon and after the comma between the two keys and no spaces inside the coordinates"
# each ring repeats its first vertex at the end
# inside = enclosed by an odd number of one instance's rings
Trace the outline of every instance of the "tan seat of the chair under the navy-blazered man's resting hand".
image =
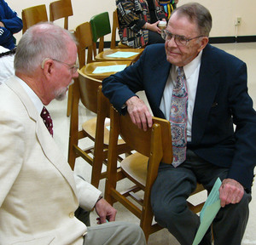
{"type": "Polygon", "coordinates": [[[147,179],[148,157],[136,152],[121,162],[124,174],[142,189],[145,188],[147,179]]]}

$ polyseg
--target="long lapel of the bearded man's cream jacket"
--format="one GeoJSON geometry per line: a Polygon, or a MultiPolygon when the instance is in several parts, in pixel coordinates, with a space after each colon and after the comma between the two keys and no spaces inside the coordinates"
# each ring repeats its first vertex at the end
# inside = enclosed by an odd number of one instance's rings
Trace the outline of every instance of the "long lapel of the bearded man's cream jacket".
{"type": "Polygon", "coordinates": [[[26,108],[28,116],[34,122],[36,122],[36,134],[38,136],[38,141],[42,146],[42,150],[44,151],[45,157],[47,157],[49,162],[51,162],[55,168],[61,172],[64,178],[67,179],[68,183],[72,186],[75,194],[77,194],[76,185],[73,178],[73,171],[69,167],[66,158],[63,157],[60,149],[55,144],[55,140],[53,140],[49,134],[38,111],[27,96],[26,91],[20,86],[20,83],[15,77],[11,78],[8,82],[6,82],[6,84],[15,92],[15,94],[18,95],[26,108]]]}

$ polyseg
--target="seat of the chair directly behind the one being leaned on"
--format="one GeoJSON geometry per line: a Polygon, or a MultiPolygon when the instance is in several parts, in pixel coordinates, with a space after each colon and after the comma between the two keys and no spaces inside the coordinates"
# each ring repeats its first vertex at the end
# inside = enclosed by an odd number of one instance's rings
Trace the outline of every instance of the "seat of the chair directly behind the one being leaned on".
{"type": "MultiPolygon", "coordinates": [[[[96,137],[96,120],[97,120],[97,117],[93,117],[82,124],[83,130],[87,134],[89,134],[91,139],[95,139],[96,137]]],[[[104,145],[108,145],[109,129],[110,129],[110,120],[109,118],[107,118],[105,120],[105,127],[104,127],[104,145]]],[[[118,144],[119,145],[125,144],[125,141],[120,138],[118,141],[118,144]]]]}

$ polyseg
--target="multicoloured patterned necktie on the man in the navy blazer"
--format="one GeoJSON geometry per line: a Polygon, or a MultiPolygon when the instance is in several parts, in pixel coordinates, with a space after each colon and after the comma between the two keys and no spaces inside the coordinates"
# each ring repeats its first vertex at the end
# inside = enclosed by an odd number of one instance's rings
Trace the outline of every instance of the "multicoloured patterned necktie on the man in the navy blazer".
{"type": "Polygon", "coordinates": [[[186,160],[188,91],[183,67],[177,68],[177,81],[173,84],[170,119],[172,128],[172,165],[176,168],[186,160]]]}

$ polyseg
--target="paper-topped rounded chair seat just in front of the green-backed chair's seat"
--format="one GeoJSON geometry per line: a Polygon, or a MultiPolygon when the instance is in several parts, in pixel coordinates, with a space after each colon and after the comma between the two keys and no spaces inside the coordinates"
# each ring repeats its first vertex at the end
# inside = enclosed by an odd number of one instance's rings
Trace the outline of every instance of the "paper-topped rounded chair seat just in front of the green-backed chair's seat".
{"type": "Polygon", "coordinates": [[[109,77],[110,75],[112,75],[112,74],[114,74],[116,72],[114,72],[114,71],[104,72],[104,73],[92,73],[92,72],[98,66],[114,66],[114,65],[130,66],[131,65],[131,60],[122,60],[122,61],[115,61],[115,60],[113,60],[113,61],[88,63],[86,66],[82,67],[81,72],[83,72],[86,76],[103,80],[104,78],[109,77]]]}

